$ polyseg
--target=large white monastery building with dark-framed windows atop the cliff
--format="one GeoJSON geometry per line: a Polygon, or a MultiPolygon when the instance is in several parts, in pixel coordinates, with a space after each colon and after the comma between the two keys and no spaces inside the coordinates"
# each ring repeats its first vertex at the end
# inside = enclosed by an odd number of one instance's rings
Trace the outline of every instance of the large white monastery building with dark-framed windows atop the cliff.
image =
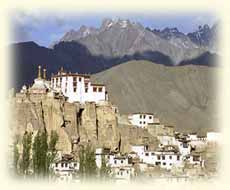
{"type": "Polygon", "coordinates": [[[51,76],[51,88],[61,89],[69,102],[99,102],[108,99],[105,85],[93,84],[90,75],[67,73],[63,69],[51,76]]]}

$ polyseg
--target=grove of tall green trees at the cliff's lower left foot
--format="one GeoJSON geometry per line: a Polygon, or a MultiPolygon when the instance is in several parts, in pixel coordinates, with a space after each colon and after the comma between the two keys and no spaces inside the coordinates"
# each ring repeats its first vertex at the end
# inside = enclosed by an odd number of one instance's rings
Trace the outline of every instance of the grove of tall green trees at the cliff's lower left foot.
{"type": "Polygon", "coordinates": [[[58,134],[51,131],[48,142],[48,133],[45,129],[38,130],[34,140],[32,132],[25,132],[22,138],[22,153],[19,154],[18,144],[13,147],[13,167],[16,174],[23,177],[46,177],[51,174],[50,164],[55,160],[58,134]]]}

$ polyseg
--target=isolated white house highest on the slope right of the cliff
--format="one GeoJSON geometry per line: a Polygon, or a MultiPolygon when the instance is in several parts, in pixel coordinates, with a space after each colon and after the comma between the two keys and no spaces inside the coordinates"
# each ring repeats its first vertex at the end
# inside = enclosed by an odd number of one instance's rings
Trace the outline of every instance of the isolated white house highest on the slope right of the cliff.
{"type": "Polygon", "coordinates": [[[133,113],[128,116],[132,125],[146,128],[149,124],[159,123],[159,119],[155,118],[151,113],[133,113]]]}

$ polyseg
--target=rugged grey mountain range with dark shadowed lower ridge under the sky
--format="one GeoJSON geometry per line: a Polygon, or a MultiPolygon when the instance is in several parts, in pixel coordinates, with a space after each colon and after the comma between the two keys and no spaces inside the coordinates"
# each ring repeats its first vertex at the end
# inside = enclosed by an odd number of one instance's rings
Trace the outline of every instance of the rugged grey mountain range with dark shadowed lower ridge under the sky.
{"type": "Polygon", "coordinates": [[[129,60],[215,66],[217,28],[204,25],[184,34],[177,28],[156,30],[129,20],[104,19],[99,28],[81,26],[66,32],[49,48],[35,42],[11,44],[17,72],[12,86],[19,89],[30,84],[38,65],[46,67],[48,75],[61,66],[72,72],[97,73],[129,60]]]}

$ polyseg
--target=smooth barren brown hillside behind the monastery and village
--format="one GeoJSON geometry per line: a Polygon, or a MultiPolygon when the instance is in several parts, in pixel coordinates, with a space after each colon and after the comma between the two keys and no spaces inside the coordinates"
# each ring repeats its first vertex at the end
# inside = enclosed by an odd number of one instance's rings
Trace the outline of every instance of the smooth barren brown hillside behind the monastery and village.
{"type": "Polygon", "coordinates": [[[130,61],[95,74],[121,113],[153,112],[180,131],[216,130],[218,68],[130,61]]]}

